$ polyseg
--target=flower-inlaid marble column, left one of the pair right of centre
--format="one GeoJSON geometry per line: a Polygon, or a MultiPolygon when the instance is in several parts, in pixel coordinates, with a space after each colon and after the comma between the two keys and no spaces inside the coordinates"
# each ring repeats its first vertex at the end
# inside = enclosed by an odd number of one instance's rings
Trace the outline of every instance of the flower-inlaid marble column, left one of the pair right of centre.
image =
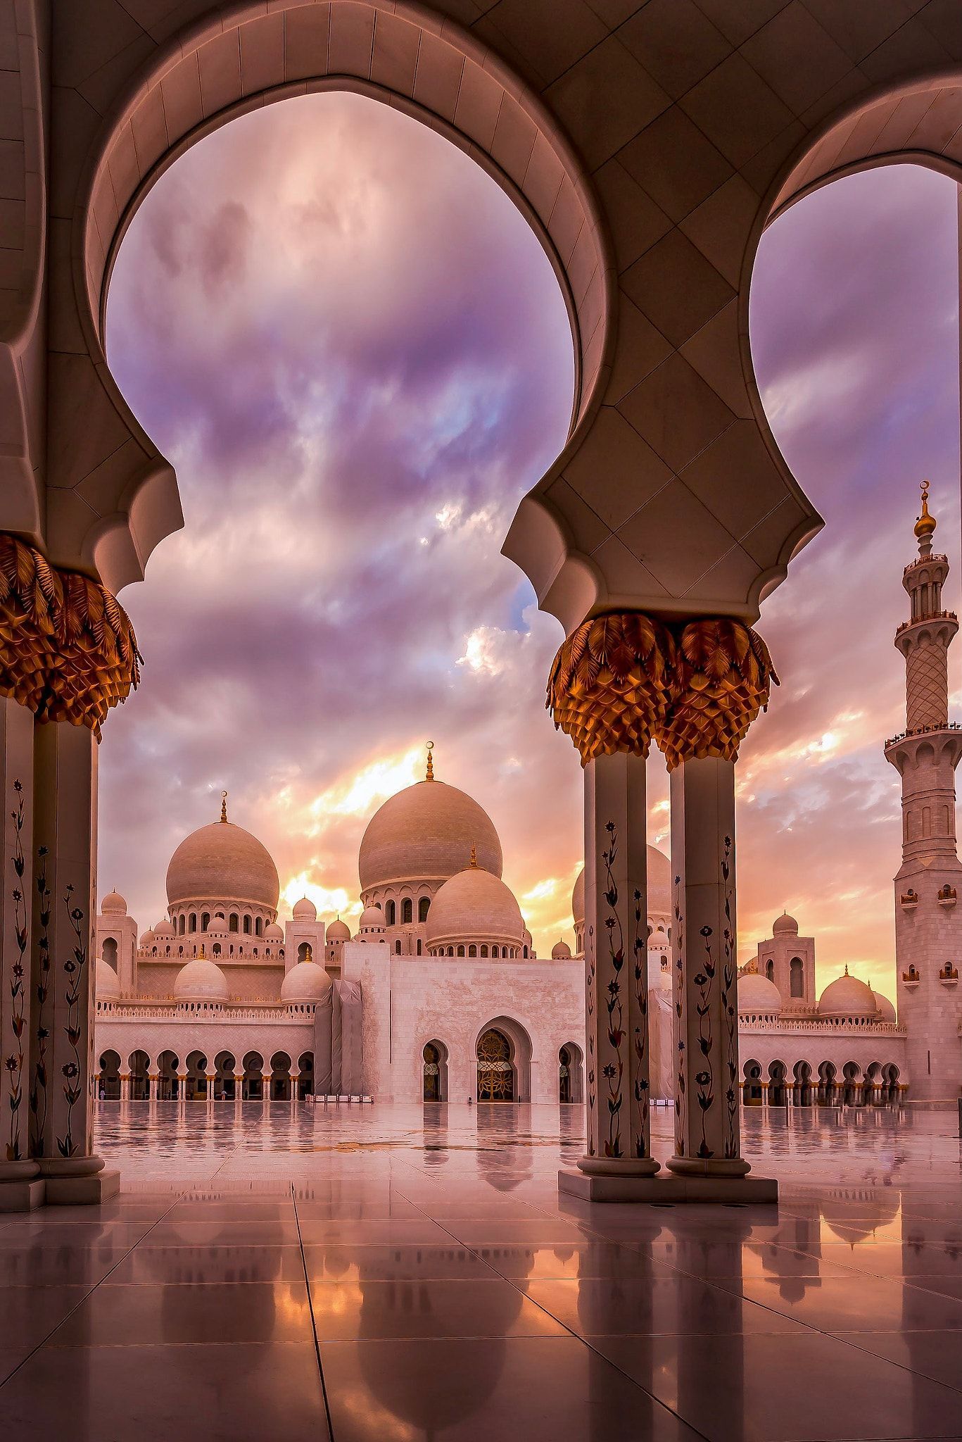
{"type": "Polygon", "coordinates": [[[581,1171],[648,1177],[646,761],[619,751],[584,767],[587,1154],[581,1171]]]}

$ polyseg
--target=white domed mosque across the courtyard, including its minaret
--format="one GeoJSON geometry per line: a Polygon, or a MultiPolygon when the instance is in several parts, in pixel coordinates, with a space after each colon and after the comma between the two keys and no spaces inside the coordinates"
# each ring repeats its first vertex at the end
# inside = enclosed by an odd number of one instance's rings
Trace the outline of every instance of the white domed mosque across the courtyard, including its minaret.
{"type": "MultiPolygon", "coordinates": [[[[948,1100],[962,1082],[955,947],[955,764],[948,721],[945,557],[923,499],[910,619],[906,733],[886,744],[903,779],[896,877],[899,1011],[845,968],[818,992],[815,939],[779,916],[738,972],[740,1086],[747,1105],[948,1100]]],[[[98,1093],[130,1100],[551,1102],[584,1096],[584,872],[574,950],[539,957],[502,880],[485,809],[434,776],[389,797],[358,857],[356,932],[301,898],[278,921],[267,848],[228,819],[186,836],[167,867],[167,911],[138,933],[111,891],[97,916],[98,1093]]],[[[648,848],[650,1090],[672,1094],[671,864],[648,848]]]]}

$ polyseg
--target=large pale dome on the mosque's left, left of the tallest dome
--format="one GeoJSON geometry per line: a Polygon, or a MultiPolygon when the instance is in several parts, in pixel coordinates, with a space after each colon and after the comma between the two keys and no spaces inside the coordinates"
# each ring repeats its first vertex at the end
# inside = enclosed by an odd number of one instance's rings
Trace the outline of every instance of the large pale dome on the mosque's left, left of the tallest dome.
{"type": "Polygon", "coordinates": [[[167,901],[247,901],[277,911],[280,880],[270,852],[250,831],[215,820],[185,836],[167,867],[167,901]]]}

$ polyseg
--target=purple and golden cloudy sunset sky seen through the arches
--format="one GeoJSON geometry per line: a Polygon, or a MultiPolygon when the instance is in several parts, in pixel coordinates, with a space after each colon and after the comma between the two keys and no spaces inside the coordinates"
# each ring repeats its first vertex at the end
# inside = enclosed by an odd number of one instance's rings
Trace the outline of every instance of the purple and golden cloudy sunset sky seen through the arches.
{"type": "MultiPolygon", "coordinates": [[[[904,705],[891,639],[923,476],[958,558],[955,186],[896,166],[789,211],[763,238],[751,343],[826,526],[759,623],[783,685],[740,764],[740,949],[785,906],[819,983],[848,962],[891,992],[881,744],[904,705]]],[[[547,953],[571,930],[581,770],[544,709],[561,629],[500,544],[564,444],[573,352],[524,218],[397,111],[286,99],[147,195],[107,345],[186,523],[123,593],[146,666],[104,728],[101,890],[157,921],[172,851],[228,789],[277,861],[281,913],[306,893],[350,919],[366,820],[423,776],[430,738],[436,774],[495,820],[547,953]]],[[[650,773],[666,848],[659,758],[650,773]]]]}

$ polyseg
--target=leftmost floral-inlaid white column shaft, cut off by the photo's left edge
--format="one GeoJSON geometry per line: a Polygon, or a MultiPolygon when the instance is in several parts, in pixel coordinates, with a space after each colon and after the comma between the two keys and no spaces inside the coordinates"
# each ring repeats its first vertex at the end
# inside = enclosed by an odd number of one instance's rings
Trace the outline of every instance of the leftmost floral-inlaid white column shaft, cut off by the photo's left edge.
{"type": "Polygon", "coordinates": [[[30,1148],[30,904],[33,895],[33,712],[0,696],[0,1211],[43,1200],[30,1148]]]}

